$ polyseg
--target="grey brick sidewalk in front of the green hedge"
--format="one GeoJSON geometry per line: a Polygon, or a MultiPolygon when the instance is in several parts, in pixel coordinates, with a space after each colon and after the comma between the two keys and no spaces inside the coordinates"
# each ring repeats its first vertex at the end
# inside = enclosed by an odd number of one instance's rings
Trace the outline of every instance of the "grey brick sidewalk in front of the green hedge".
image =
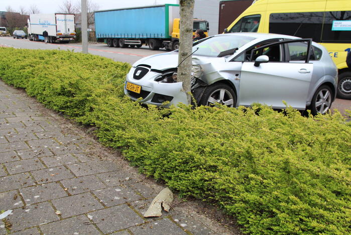
{"type": "Polygon", "coordinates": [[[98,143],[1,80],[0,100],[0,210],[13,210],[0,234],[228,233],[184,208],[144,218],[161,186],[100,160],[98,143]]]}

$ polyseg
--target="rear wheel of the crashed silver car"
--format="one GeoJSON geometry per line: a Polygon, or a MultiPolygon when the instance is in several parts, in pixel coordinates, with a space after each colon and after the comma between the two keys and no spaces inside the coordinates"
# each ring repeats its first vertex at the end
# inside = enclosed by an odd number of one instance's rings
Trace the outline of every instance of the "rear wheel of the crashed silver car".
{"type": "Polygon", "coordinates": [[[314,93],[311,102],[311,113],[312,115],[325,114],[331,106],[332,92],[328,86],[321,86],[314,93]]]}

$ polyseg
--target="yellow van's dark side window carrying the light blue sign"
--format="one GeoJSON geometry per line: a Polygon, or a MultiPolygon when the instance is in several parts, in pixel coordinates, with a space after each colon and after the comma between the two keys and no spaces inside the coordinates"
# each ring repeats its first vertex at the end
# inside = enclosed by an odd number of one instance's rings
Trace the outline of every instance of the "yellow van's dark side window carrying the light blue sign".
{"type": "Polygon", "coordinates": [[[326,12],[323,25],[322,42],[350,43],[351,31],[332,30],[333,21],[351,21],[351,11],[326,12]]]}

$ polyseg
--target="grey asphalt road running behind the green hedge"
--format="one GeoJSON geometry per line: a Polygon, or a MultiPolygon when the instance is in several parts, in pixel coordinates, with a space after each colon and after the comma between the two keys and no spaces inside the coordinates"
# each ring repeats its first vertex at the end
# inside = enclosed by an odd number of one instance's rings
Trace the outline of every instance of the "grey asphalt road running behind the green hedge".
{"type": "MultiPolygon", "coordinates": [[[[75,52],[82,51],[82,46],[78,43],[44,44],[44,42],[34,42],[29,41],[28,39],[14,39],[12,37],[0,37],[0,46],[2,45],[25,49],[60,49],[73,50],[75,52]]],[[[142,46],[141,48],[114,48],[107,47],[104,43],[92,43],[89,44],[88,48],[88,51],[91,54],[104,56],[111,58],[114,61],[122,61],[130,64],[133,64],[145,56],[167,52],[165,49],[152,51],[147,46],[142,46]]],[[[337,109],[341,113],[345,113],[345,109],[351,109],[351,100],[336,99],[332,104],[331,109],[337,109]]]]}

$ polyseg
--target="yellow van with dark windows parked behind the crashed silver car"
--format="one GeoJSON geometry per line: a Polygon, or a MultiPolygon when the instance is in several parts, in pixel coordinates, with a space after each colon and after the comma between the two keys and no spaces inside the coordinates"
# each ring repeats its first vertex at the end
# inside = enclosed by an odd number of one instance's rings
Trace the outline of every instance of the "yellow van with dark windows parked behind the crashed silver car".
{"type": "Polygon", "coordinates": [[[256,0],[224,33],[259,32],[312,38],[338,68],[337,96],[351,99],[351,0],[256,0]]]}

